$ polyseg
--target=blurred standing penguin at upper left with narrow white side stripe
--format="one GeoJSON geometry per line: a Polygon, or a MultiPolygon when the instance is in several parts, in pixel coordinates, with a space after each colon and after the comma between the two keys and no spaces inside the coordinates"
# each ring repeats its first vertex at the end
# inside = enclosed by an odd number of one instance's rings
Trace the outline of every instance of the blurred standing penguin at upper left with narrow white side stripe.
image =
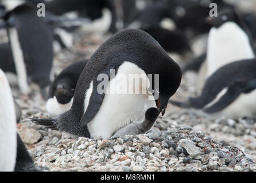
{"type": "Polygon", "coordinates": [[[30,92],[28,82],[44,89],[50,83],[53,59],[52,31],[37,9],[29,3],[21,4],[6,13],[11,51],[21,92],[30,92]]]}

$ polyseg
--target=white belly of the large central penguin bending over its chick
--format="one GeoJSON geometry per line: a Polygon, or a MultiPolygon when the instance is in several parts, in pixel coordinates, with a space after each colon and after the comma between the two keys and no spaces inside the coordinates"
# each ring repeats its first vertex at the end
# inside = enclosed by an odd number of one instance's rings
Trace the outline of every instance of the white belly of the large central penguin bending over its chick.
{"type": "MultiPolygon", "coordinates": [[[[118,78],[119,74],[128,76],[128,74],[145,74],[142,69],[139,69],[135,64],[130,62],[123,63],[119,69],[115,78],[118,78]]],[[[116,91],[120,86],[120,82],[114,81],[117,79],[111,79],[107,85],[107,91],[116,91]],[[113,90],[116,89],[116,90],[113,90]]],[[[128,78],[128,77],[127,77],[128,78]]],[[[141,81],[141,87],[139,89],[148,89],[146,83],[148,78],[143,77],[141,81]]],[[[127,80],[126,80],[127,81],[127,80]]],[[[123,80],[125,82],[125,80],[123,80]]],[[[129,83],[128,81],[125,83],[129,83]]],[[[128,86],[127,86],[128,87],[128,86]]],[[[133,85],[129,85],[133,87],[133,85]]],[[[136,85],[133,87],[134,91],[138,88],[136,85]],[[135,88],[135,89],[134,89],[135,88]]],[[[141,121],[145,119],[145,112],[147,109],[155,107],[156,102],[149,100],[149,96],[152,94],[146,92],[145,94],[129,94],[129,93],[106,93],[103,99],[103,103],[100,106],[99,112],[87,124],[88,130],[91,136],[102,136],[103,138],[111,137],[118,129],[126,126],[131,121],[141,121]]],[[[87,100],[85,101],[85,103],[87,100]]],[[[87,106],[87,105],[85,105],[87,106]]]]}

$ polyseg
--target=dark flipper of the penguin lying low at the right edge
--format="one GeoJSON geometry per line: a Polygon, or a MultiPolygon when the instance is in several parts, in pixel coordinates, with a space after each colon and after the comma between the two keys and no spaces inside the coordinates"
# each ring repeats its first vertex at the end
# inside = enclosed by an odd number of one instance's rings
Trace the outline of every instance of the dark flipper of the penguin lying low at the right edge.
{"type": "Polygon", "coordinates": [[[204,109],[207,113],[216,113],[230,105],[242,93],[250,93],[256,89],[256,79],[245,82],[235,82],[228,87],[228,90],[214,105],[204,109]]]}

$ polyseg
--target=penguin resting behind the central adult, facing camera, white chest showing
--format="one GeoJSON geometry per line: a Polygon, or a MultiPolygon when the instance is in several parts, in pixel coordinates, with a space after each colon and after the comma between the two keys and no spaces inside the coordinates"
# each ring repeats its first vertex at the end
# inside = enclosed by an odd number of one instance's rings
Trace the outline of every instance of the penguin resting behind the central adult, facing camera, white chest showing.
{"type": "Polygon", "coordinates": [[[49,98],[46,110],[51,115],[59,115],[72,106],[76,83],[82,73],[87,60],[75,62],[55,78],[49,88],[49,98]]]}

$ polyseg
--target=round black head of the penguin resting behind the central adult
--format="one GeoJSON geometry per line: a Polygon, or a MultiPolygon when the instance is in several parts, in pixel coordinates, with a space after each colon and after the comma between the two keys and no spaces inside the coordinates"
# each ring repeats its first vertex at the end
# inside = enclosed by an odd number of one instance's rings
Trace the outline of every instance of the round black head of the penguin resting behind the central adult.
{"type": "Polygon", "coordinates": [[[63,78],[55,83],[53,91],[60,104],[67,104],[74,95],[75,87],[70,79],[63,78]]]}

